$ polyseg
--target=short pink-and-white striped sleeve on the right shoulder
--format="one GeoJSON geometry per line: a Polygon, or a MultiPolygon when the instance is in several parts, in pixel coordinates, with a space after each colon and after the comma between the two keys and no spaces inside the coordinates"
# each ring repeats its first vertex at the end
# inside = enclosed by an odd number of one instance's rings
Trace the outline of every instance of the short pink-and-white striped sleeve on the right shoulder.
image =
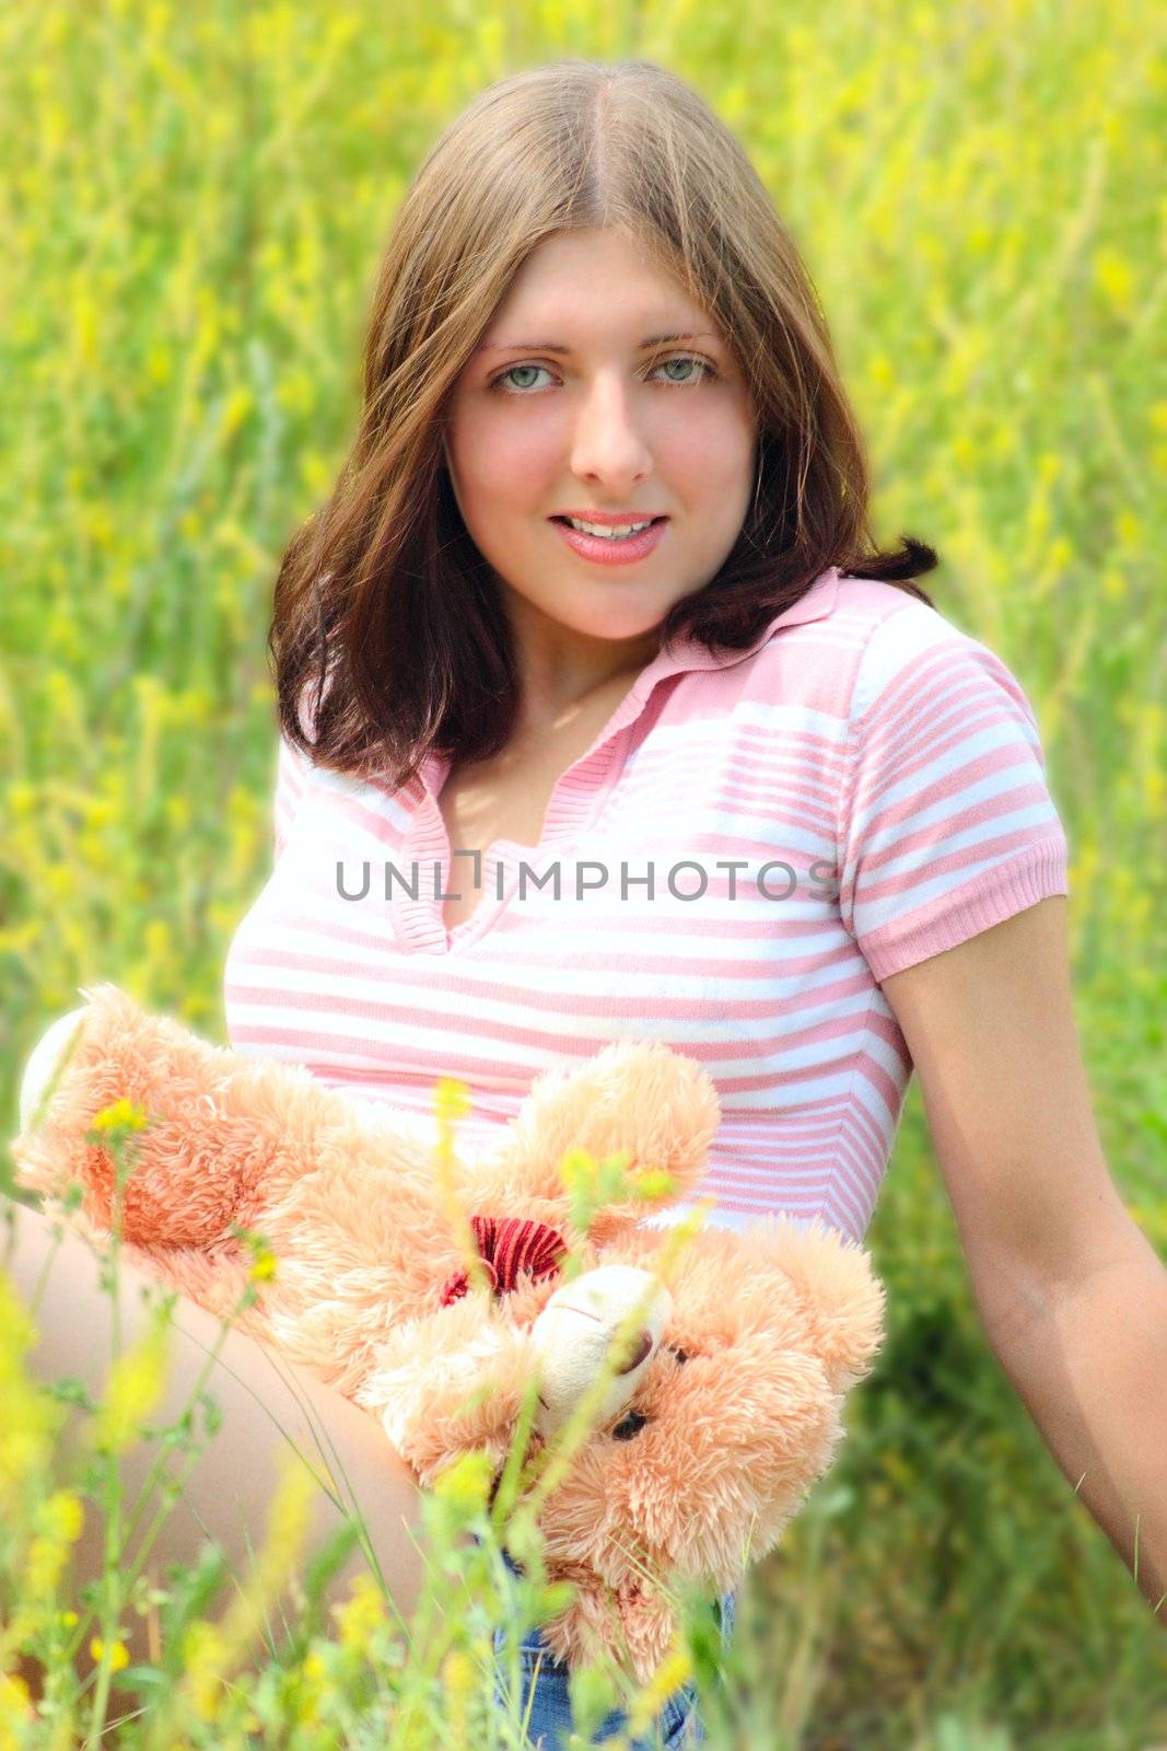
{"type": "Polygon", "coordinates": [[[922,602],[863,650],[838,830],[842,919],[877,981],[1069,893],[1022,685],[922,602]]]}

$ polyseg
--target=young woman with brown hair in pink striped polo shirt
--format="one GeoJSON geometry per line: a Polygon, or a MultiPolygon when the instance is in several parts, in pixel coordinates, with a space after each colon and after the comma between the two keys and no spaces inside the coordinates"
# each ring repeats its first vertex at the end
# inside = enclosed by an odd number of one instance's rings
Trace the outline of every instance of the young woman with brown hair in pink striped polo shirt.
{"type": "MultiPolygon", "coordinates": [[[[227,958],[233,1045],[420,1136],[462,1077],[478,1149],[541,1070],[658,1037],[721,1094],[714,1220],[857,1240],[915,1066],[987,1336],[1116,1548],[1141,1509],[1162,1565],[1151,1443],[1106,1422],[1122,1362],[1071,1340],[1092,1285],[1162,1306],[1164,1273],[1094,1126],[1038,725],[912,581],[934,552],[875,545],[815,292],[742,147],[644,61],[492,86],[401,207],[364,366],[276,581],[276,853],[227,958]]],[[[394,1455],[315,1403],[392,1480],[408,1602],[394,1455]]],[[[261,1478],[259,1410],[229,1445],[261,1478]]],[[[567,1676],[539,1632],[523,1660],[558,1744],[567,1676]]],[[[700,1735],[691,1700],[667,1742],[700,1735]]]]}

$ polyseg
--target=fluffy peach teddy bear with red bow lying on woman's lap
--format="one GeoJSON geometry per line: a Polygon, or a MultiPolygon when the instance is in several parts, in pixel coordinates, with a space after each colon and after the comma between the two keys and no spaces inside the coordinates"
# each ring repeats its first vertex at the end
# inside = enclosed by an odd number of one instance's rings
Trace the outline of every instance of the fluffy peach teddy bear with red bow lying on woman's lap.
{"type": "Polygon", "coordinates": [[[646,1220],[700,1192],[721,1117],[710,1077],[658,1040],[542,1072],[499,1143],[455,1147],[443,1178],[415,1117],[374,1117],[114,984],[79,995],[26,1063],[17,1182],[59,1208],[77,1182],[70,1220],[108,1236],[115,1163],[93,1121],[145,1108],[124,1255],[378,1417],[422,1488],[469,1450],[497,1488],[525,1404],[534,1455],[591,1389],[537,1515],[548,1579],[574,1585],[542,1635],[572,1669],[611,1655],[647,1681],[679,1628],[670,1581],[737,1588],[831,1467],[884,1340],[866,1250],[817,1217],[698,1220],[681,1247],[646,1220]],[[562,1170],[581,1152],[623,1177],[576,1231],[562,1170]],[[275,1275],[240,1311],[248,1233],[275,1275]]]}

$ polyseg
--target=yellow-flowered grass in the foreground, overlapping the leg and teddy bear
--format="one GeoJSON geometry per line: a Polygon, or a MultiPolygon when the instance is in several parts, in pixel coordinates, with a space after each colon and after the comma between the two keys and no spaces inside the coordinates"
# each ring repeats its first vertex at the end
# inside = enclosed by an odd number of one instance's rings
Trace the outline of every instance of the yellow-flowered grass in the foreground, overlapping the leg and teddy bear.
{"type": "MultiPolygon", "coordinates": [[[[439,1117],[446,1122],[437,1168],[451,1159],[451,1094],[460,1105],[462,1087],[446,1082],[439,1096],[439,1117]]],[[[149,1285],[149,1319],[136,1341],[126,1347],[121,1297],[114,1292],[122,1194],[133,1173],[135,1133],[147,1121],[143,1110],[122,1100],[96,1115],[91,1133],[93,1142],[103,1140],[114,1152],[117,1166],[112,1234],[98,1254],[101,1283],[110,1296],[112,1357],[100,1401],[93,1401],[79,1380],[45,1387],[24,1366],[52,1254],[30,1308],[12,1294],[0,1271],[5,1408],[0,1427],[0,1747],[84,1744],[93,1751],[117,1742],[143,1751],[170,1751],[175,1744],[287,1744],[304,1751],[310,1746],[313,1751],[450,1746],[460,1751],[465,1744],[481,1744],[511,1751],[521,1746],[527,1704],[518,1637],[553,1616],[574,1593],[565,1583],[548,1581],[539,1508],[595,1427],[612,1368],[626,1359],[644,1308],[628,1311],[607,1369],[530,1466],[523,1457],[537,1382],[530,1383],[497,1488],[492,1459],[469,1452],[423,1495],[425,1581],[408,1620],[376,1567],[362,1504],[346,1508],[353,1499],[348,1480],[348,1495],[341,1501],[290,1436],[269,1504],[268,1537],[250,1571],[233,1574],[222,1548],[208,1541],[192,1567],[168,1564],[159,1585],[147,1569],[157,1534],[173,1504],[185,1499],[184,1485],[208,1439],[219,1432],[212,1369],[222,1340],[236,1315],[278,1275],[280,1262],[261,1234],[240,1231],[254,1259],[248,1282],[236,1308],[219,1320],[219,1340],[187,1403],[159,1420],[156,1413],[168,1382],[170,1313],[177,1297],[157,1283],[149,1285]],[[205,1390],[208,1383],[212,1390],[205,1390]],[[68,1443],[61,1441],[66,1406],[82,1411],[80,1438],[68,1443]],[[203,1411],[201,1439],[196,1410],[203,1411]],[[129,1502],[121,1460],[140,1441],[156,1450],[154,1462],[129,1502]],[[320,1488],[329,1488],[343,1520],[325,1546],[308,1558],[304,1539],[320,1488]],[[72,1572],[65,1571],[86,1516],[94,1509],[101,1511],[103,1572],[96,1583],[77,1590],[72,1572]],[[357,1574],[350,1599],[334,1606],[332,1621],[325,1623],[322,1588],[357,1541],[371,1557],[371,1567],[357,1574]],[[521,1574],[504,1564],[502,1541],[521,1562],[521,1574]],[[150,1616],[149,1639],[157,1644],[157,1653],[138,1663],[131,1663],[126,1646],[133,1613],[150,1616]],[[493,1632],[502,1625],[511,1637],[497,1651],[493,1632]]],[[[570,1184],[581,1233],[600,1203],[639,1194],[635,1178],[616,1159],[600,1168],[584,1150],[574,1152],[570,1182],[565,1166],[565,1184],[570,1184]]],[[[80,1203],[80,1185],[70,1191],[66,1210],[80,1203]]],[[[59,1224],[59,1217],[56,1220],[59,1224]]],[[[665,1238],[665,1271],[691,1231],[691,1224],[681,1224],[665,1238]]],[[[63,1224],[58,1241],[61,1234],[63,1224]]],[[[583,1266],[583,1255],[572,1254],[562,1266],[565,1278],[583,1266]]],[[[325,1453],[318,1439],[317,1448],[327,1480],[341,1460],[334,1448],[325,1453]]],[[[626,1735],[612,1740],[612,1751],[626,1747],[628,1735],[637,1746],[656,1744],[654,1718],[672,1693],[689,1679],[702,1691],[717,1681],[709,1611],[691,1588],[674,1592],[674,1599],[681,1634],[646,1684],[637,1686],[607,1658],[572,1674],[581,1730],[598,1725],[616,1707],[626,1712],[626,1735]]]]}

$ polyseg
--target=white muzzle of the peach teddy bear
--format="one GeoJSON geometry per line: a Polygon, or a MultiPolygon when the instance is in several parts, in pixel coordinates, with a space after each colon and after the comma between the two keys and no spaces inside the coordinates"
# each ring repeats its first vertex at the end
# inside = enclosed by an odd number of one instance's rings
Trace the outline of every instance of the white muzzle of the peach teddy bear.
{"type": "Polygon", "coordinates": [[[628,1404],[644,1369],[660,1348],[672,1315],[672,1296],[651,1271],[602,1264],[563,1283],[548,1299],[530,1336],[539,1359],[535,1427],[549,1439],[600,1378],[612,1340],[637,1310],[623,1355],[614,1357],[591,1424],[598,1427],[628,1404]]]}

